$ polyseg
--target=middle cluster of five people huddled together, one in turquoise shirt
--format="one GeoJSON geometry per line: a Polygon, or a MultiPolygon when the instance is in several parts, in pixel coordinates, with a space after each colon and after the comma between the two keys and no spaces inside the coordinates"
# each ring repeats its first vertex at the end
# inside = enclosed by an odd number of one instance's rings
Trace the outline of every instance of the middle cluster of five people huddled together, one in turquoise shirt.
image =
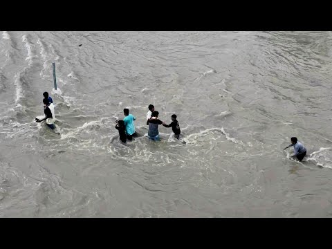
{"type": "MultiPolygon", "coordinates": [[[[160,140],[158,125],[163,124],[164,127],[172,127],[172,131],[174,132],[174,137],[180,138],[180,124],[178,124],[178,120],[176,120],[176,115],[172,115],[172,122],[170,124],[165,124],[165,122],[158,119],[159,112],[155,111],[154,105],[149,104],[149,111],[147,112],[147,125],[149,125],[149,131],[147,132],[147,137],[151,140],[158,141],[160,140]]],[[[133,121],[136,118],[129,114],[129,109],[123,109],[124,119],[116,120],[116,129],[119,131],[120,140],[122,142],[127,142],[127,140],[133,140],[133,137],[137,136],[135,131],[135,125],[133,121]]]]}

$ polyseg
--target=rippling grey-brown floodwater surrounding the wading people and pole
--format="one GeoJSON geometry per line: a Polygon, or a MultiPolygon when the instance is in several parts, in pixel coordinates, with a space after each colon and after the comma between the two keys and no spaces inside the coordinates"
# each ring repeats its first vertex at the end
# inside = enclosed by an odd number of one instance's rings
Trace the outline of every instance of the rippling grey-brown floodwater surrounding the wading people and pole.
{"type": "Polygon", "coordinates": [[[331,57],[331,32],[2,31],[0,216],[331,216],[331,57]],[[149,141],[149,104],[186,144],[149,141]]]}

